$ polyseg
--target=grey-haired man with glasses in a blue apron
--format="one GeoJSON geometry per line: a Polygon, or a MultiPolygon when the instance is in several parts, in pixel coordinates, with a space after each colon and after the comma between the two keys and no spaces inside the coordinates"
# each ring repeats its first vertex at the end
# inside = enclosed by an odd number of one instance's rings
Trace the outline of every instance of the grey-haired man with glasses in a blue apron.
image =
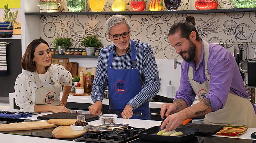
{"type": "Polygon", "coordinates": [[[105,26],[113,44],[100,51],[90,113],[100,114],[108,85],[110,114],[124,119],[150,120],[149,100],[160,89],[153,50],[147,43],[130,39],[131,26],[124,16],[111,16],[105,26]]]}

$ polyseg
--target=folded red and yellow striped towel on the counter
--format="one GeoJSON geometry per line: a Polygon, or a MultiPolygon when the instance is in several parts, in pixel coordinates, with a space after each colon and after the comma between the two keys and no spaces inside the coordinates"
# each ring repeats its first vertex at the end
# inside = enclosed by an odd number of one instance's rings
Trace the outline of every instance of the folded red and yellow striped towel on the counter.
{"type": "Polygon", "coordinates": [[[232,136],[237,137],[240,134],[246,132],[248,128],[246,125],[236,126],[236,125],[225,125],[223,129],[221,129],[217,135],[225,135],[225,136],[232,136]]]}

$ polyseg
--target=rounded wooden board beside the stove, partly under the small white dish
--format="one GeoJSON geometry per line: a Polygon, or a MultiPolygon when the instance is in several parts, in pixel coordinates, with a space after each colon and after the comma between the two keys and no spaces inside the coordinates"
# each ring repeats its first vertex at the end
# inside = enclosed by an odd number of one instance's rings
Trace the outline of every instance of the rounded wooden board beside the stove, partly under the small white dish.
{"type": "Polygon", "coordinates": [[[61,125],[52,131],[52,136],[55,138],[77,138],[82,136],[87,130],[72,130],[70,126],[61,125]]]}

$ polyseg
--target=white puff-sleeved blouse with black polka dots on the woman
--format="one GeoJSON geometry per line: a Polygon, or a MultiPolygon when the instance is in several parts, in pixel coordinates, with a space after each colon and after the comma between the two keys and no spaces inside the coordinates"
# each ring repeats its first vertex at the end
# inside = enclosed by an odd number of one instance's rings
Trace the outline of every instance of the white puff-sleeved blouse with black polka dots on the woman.
{"type": "MultiPolygon", "coordinates": [[[[54,78],[60,85],[72,86],[72,75],[62,65],[51,65],[54,78]]],[[[49,71],[45,74],[39,74],[40,82],[43,87],[54,86],[51,85],[51,78],[49,71]]],[[[25,70],[19,74],[15,85],[15,102],[20,107],[21,111],[35,112],[35,100],[36,100],[36,82],[32,72],[25,70]]]]}

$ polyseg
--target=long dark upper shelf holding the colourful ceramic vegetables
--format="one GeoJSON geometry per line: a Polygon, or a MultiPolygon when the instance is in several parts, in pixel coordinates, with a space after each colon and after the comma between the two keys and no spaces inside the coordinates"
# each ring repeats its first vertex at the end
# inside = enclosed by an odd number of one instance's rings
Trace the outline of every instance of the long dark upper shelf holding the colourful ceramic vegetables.
{"type": "Polygon", "coordinates": [[[58,13],[25,13],[25,15],[154,15],[154,14],[201,14],[201,13],[233,13],[256,11],[256,8],[244,9],[211,9],[211,10],[177,10],[177,11],[104,11],[104,12],[58,12],[58,13]]]}

